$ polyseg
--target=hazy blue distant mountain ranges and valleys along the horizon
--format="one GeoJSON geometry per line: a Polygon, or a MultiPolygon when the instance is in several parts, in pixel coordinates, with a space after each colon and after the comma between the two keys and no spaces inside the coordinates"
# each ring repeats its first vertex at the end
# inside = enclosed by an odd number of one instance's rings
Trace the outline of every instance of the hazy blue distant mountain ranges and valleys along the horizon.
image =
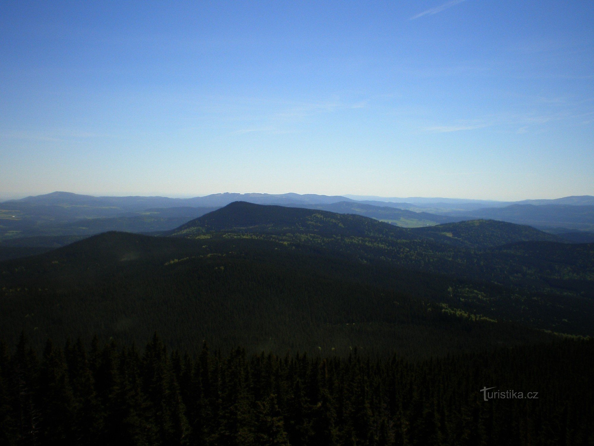
{"type": "MultiPolygon", "coordinates": [[[[168,231],[235,201],[354,213],[399,227],[496,219],[531,225],[551,233],[571,233],[565,240],[574,243],[594,240],[592,196],[511,203],[440,197],[401,199],[296,193],[220,193],[179,199],[160,196],[94,197],[53,192],[0,203],[0,246],[5,246],[6,240],[16,238],[23,239],[23,244],[19,246],[31,246],[32,240],[38,240],[31,237],[84,236],[110,230],[135,233],[168,231]],[[354,197],[365,200],[355,200],[354,197]]],[[[43,245],[54,246],[59,243],[58,240],[61,239],[46,239],[43,245]]]]}

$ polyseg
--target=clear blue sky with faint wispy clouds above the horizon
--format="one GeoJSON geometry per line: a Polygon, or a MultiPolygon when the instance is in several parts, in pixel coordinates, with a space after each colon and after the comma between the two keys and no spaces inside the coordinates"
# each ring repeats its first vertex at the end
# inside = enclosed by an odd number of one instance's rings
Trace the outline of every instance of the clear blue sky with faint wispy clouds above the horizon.
{"type": "Polygon", "coordinates": [[[0,4],[0,197],[594,194],[594,2],[0,4]]]}

